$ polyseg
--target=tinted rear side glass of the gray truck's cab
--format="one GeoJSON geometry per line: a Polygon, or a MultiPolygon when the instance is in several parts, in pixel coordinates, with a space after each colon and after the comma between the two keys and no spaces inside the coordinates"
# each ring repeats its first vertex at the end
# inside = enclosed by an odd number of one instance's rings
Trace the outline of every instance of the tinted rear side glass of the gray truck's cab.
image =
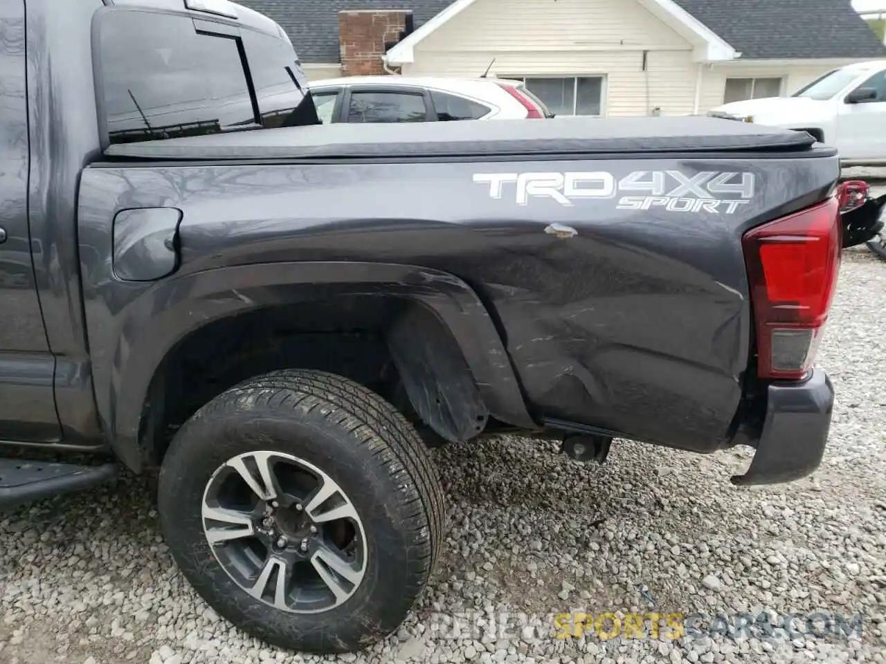
{"type": "Polygon", "coordinates": [[[245,37],[226,32],[233,34],[199,31],[186,16],[106,13],[99,77],[110,143],[315,124],[291,46],[245,29],[245,37]]]}

